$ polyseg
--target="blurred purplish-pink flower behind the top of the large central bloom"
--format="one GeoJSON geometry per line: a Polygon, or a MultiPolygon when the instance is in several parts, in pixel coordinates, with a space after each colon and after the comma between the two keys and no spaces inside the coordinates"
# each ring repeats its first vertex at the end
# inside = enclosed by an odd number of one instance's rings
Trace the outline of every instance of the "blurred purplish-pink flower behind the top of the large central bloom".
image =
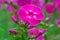
{"type": "Polygon", "coordinates": [[[17,1],[17,4],[19,6],[24,6],[24,5],[27,5],[27,4],[33,4],[35,6],[39,6],[39,7],[42,7],[45,3],[45,0],[18,0],[17,1]]]}

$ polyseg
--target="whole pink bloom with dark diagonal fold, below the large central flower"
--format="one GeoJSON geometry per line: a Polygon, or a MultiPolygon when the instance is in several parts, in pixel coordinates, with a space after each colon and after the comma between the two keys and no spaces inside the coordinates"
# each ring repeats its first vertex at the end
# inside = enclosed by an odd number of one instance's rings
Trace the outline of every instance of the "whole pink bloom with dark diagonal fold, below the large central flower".
{"type": "Polygon", "coordinates": [[[44,40],[44,33],[46,29],[39,30],[38,28],[32,28],[28,30],[28,36],[34,36],[35,40],[44,40]]]}

